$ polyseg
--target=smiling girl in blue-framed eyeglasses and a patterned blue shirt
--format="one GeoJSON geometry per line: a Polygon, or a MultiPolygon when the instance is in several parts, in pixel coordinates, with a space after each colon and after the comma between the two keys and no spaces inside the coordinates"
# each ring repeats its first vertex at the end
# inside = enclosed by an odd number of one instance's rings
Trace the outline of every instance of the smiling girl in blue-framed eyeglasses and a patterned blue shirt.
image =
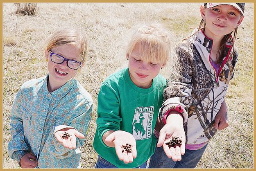
{"type": "Polygon", "coordinates": [[[25,82],[11,109],[9,155],[22,168],[77,168],[93,100],[74,76],[88,43],[75,29],[60,29],[47,41],[49,74],[25,82]]]}

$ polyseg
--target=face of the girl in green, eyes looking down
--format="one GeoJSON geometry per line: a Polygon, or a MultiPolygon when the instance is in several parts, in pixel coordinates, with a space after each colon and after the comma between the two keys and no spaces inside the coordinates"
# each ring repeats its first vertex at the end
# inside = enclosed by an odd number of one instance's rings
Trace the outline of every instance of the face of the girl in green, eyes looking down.
{"type": "Polygon", "coordinates": [[[154,79],[164,63],[156,63],[155,61],[145,61],[141,56],[138,45],[136,45],[131,52],[127,54],[129,59],[129,76],[131,81],[140,88],[150,88],[152,79],[154,79]]]}

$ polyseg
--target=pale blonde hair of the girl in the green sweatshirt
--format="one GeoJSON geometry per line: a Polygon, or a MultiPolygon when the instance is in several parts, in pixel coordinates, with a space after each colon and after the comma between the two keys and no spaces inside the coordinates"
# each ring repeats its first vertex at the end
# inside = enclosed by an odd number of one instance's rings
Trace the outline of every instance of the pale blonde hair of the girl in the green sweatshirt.
{"type": "Polygon", "coordinates": [[[171,52],[171,34],[168,29],[157,22],[135,25],[130,29],[130,35],[126,54],[131,54],[138,45],[143,60],[167,63],[171,52]]]}

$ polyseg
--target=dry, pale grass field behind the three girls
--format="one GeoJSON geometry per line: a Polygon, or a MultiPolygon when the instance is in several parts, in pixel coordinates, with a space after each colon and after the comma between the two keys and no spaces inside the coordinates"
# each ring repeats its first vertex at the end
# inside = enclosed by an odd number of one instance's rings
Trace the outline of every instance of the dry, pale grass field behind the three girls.
{"type": "MultiPolygon", "coordinates": [[[[82,146],[82,168],[93,168],[97,153],[92,143],[96,128],[97,93],[109,74],[127,66],[124,40],[136,23],[159,21],[172,31],[174,42],[188,36],[200,22],[200,3],[38,3],[36,15],[16,14],[3,4],[3,168],[20,168],[8,155],[9,113],[20,86],[47,74],[42,67],[43,40],[61,27],[86,32],[89,58],[77,76],[91,93],[95,111],[82,146]]],[[[238,29],[239,61],[226,96],[229,127],[218,131],[197,168],[253,167],[253,4],[245,5],[238,29]]],[[[168,78],[168,70],[161,74],[168,78]]]]}

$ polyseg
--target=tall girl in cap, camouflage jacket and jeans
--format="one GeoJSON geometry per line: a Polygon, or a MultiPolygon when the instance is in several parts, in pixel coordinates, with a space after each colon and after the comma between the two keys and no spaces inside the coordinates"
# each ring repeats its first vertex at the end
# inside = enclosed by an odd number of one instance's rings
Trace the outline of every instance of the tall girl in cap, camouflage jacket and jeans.
{"type": "Polygon", "coordinates": [[[181,77],[163,92],[150,168],[194,168],[217,129],[229,125],[224,97],[238,60],[234,41],[244,6],[205,3],[199,29],[177,46],[181,77]],[[169,148],[165,143],[172,137],[180,137],[181,146],[169,148]]]}

